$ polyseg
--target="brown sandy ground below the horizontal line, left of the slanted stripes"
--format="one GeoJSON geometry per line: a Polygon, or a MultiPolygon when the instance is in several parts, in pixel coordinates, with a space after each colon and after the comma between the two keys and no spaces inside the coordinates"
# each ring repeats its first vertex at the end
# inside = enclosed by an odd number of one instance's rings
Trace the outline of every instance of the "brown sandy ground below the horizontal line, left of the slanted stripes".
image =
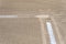
{"type": "Polygon", "coordinates": [[[0,44],[42,44],[42,40],[38,19],[0,19],[0,44]]]}

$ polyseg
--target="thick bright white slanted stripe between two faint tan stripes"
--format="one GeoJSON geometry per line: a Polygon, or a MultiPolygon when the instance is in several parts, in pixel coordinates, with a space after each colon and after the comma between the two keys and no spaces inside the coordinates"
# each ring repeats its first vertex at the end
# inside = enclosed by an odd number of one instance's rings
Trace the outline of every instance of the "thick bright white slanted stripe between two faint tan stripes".
{"type": "Polygon", "coordinates": [[[50,34],[51,44],[56,44],[51,22],[46,22],[46,26],[47,26],[47,31],[48,31],[48,34],[50,34]]]}

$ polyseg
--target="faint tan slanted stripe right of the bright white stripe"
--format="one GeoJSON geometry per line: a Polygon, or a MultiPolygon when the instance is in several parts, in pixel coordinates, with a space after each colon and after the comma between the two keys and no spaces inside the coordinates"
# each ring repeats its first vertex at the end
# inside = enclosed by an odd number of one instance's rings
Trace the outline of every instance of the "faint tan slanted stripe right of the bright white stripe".
{"type": "Polygon", "coordinates": [[[56,31],[57,36],[58,36],[58,40],[59,40],[59,44],[65,44],[65,42],[64,42],[64,40],[63,40],[63,37],[62,37],[62,34],[59,33],[59,30],[58,30],[58,28],[57,28],[57,24],[56,24],[55,19],[54,19],[53,16],[51,16],[51,20],[52,20],[53,23],[54,23],[55,31],[56,31]]]}

